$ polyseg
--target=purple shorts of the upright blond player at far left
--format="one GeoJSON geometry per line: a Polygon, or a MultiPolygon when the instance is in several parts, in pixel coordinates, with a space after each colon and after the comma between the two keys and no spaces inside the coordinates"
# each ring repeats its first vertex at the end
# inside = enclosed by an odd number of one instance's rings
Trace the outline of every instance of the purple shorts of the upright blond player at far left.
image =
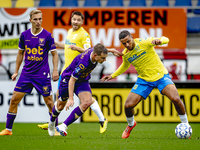
{"type": "Polygon", "coordinates": [[[21,74],[21,76],[19,77],[14,91],[31,93],[33,87],[35,87],[38,94],[41,94],[44,97],[52,94],[50,77],[46,78],[45,76],[41,78],[30,78],[29,76],[23,74],[21,74]]]}

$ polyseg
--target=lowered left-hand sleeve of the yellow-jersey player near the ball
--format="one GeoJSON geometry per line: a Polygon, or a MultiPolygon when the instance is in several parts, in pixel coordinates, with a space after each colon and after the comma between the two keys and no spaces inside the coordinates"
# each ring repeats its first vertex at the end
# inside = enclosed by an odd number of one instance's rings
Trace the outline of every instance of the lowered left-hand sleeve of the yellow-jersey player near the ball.
{"type": "Polygon", "coordinates": [[[130,67],[131,64],[126,59],[124,59],[123,56],[122,58],[123,58],[123,62],[119,66],[119,68],[113,74],[111,74],[112,78],[115,78],[119,76],[120,74],[124,73],[130,67]]]}

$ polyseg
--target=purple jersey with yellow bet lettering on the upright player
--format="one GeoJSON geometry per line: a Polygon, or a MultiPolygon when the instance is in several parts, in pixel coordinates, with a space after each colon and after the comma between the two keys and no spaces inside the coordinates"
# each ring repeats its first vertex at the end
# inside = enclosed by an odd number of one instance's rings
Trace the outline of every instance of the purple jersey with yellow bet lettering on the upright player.
{"type": "Polygon", "coordinates": [[[22,74],[28,74],[29,77],[40,77],[50,73],[48,53],[50,50],[56,49],[50,32],[45,29],[36,35],[31,32],[31,29],[22,32],[19,49],[25,50],[22,74]]]}

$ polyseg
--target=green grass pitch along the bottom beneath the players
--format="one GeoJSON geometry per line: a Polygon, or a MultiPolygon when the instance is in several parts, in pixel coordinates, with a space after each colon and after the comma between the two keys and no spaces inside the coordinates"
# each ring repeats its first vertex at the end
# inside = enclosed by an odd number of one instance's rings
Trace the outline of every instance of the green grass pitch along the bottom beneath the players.
{"type": "MultiPolygon", "coordinates": [[[[15,123],[12,136],[0,136],[0,150],[199,150],[200,123],[190,123],[191,139],[178,139],[178,123],[138,123],[128,139],[121,135],[127,123],[108,123],[99,133],[98,123],[72,124],[66,137],[50,137],[35,123],[15,123]]],[[[0,129],[5,123],[0,123],[0,129]]]]}

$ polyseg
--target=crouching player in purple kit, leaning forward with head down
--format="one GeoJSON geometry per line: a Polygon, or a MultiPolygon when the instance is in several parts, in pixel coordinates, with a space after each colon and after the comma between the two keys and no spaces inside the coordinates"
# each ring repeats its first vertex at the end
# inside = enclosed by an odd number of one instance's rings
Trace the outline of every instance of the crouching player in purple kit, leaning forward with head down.
{"type": "Polygon", "coordinates": [[[79,97],[81,103],[61,125],[56,127],[56,130],[62,136],[67,135],[67,126],[82,116],[92,104],[92,91],[89,84],[90,73],[98,63],[106,61],[107,56],[108,50],[102,44],[97,44],[94,48],[89,48],[76,56],[72,63],[63,71],[59,84],[59,96],[49,121],[48,132],[50,136],[55,134],[55,120],[65,105],[66,110],[74,105],[74,93],[79,97]]]}

